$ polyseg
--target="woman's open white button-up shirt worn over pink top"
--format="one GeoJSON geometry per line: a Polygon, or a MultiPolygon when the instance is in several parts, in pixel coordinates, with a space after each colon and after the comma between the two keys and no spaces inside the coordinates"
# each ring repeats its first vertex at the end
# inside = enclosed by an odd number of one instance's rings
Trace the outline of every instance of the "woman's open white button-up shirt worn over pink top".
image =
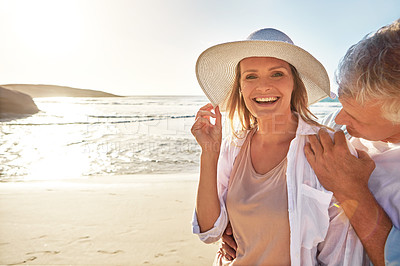
{"type": "MultiPolygon", "coordinates": [[[[291,264],[364,265],[367,259],[360,240],[343,209],[337,207],[333,193],[322,187],[305,157],[307,135],[316,134],[318,130],[319,127],[309,125],[299,117],[296,137],[287,154],[291,264]]],[[[219,240],[228,223],[225,208],[228,181],[244,139],[230,137],[221,146],[217,173],[221,213],[214,227],[200,233],[194,213],[193,233],[205,243],[219,240]]],[[[354,149],[352,152],[355,154],[354,149]]]]}

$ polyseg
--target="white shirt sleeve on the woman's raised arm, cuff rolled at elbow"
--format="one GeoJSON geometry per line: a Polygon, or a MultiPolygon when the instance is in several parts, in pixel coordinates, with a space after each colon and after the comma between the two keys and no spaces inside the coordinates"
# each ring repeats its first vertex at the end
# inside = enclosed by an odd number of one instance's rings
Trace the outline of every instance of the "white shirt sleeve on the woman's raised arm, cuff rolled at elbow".
{"type": "Polygon", "coordinates": [[[196,211],[194,211],[193,214],[192,232],[193,234],[198,235],[200,240],[204,243],[214,243],[218,241],[228,224],[228,214],[226,212],[225,201],[226,192],[228,189],[228,181],[233,167],[233,159],[231,141],[230,138],[226,138],[221,145],[221,152],[217,167],[217,187],[221,209],[220,215],[217,221],[214,223],[213,228],[206,232],[200,232],[196,211]]]}

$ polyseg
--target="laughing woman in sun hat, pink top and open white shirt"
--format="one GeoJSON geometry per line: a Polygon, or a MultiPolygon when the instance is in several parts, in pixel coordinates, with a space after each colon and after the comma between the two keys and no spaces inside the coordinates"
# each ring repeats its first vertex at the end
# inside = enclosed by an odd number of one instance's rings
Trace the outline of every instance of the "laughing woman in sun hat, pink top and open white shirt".
{"type": "Polygon", "coordinates": [[[212,104],[192,127],[202,149],[193,232],[215,242],[230,222],[237,242],[236,259],[218,254],[216,264],[365,263],[303,152],[320,128],[307,106],[330,93],[324,67],[284,33],[262,29],[204,51],[196,74],[212,104]],[[223,142],[220,108],[241,128],[223,142]]]}

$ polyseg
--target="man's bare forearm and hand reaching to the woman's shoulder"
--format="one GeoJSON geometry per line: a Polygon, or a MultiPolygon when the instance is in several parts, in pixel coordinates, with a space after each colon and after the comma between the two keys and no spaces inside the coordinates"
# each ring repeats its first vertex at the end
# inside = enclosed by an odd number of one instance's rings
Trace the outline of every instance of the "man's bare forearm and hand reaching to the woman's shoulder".
{"type": "Polygon", "coordinates": [[[310,143],[304,147],[308,162],[321,184],[339,201],[371,262],[385,265],[384,247],[392,222],[368,188],[374,161],[360,150],[358,158],[353,156],[343,131],[335,133],[334,141],[324,129],[318,136],[319,140],[309,136],[310,143]]]}

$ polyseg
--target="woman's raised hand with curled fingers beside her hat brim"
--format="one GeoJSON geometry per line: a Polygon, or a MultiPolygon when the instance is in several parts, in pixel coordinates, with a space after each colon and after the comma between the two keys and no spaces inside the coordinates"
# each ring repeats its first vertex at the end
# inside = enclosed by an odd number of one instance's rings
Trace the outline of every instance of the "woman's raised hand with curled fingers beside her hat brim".
{"type": "Polygon", "coordinates": [[[215,108],[215,113],[212,110],[211,103],[200,108],[196,114],[196,121],[192,126],[191,132],[203,152],[219,154],[222,141],[222,115],[218,106],[215,108]],[[215,125],[211,123],[211,117],[215,118],[215,125]]]}

